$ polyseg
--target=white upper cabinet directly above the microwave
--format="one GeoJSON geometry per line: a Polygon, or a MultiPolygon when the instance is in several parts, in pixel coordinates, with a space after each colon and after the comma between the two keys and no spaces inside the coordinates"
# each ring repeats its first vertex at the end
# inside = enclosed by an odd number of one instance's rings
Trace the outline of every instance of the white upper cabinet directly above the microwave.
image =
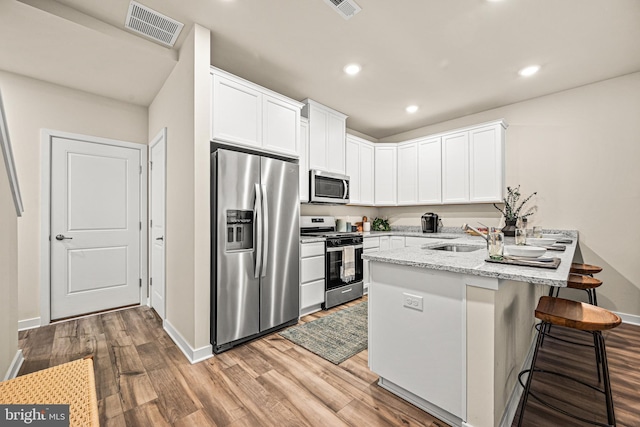
{"type": "Polygon", "coordinates": [[[345,174],[347,116],[311,99],[302,115],[309,119],[309,169],[345,174]]]}

